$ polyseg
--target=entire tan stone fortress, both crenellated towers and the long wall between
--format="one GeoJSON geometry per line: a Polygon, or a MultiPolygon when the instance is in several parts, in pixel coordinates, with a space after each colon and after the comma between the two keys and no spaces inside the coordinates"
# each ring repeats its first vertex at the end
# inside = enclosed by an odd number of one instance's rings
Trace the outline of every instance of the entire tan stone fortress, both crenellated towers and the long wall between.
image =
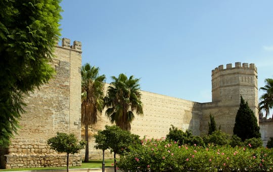
{"type": "MultiPolygon", "coordinates": [[[[63,154],[49,149],[47,140],[57,132],[74,133],[81,138],[81,43],[74,41],[70,46],[70,40],[64,38],[62,46],[56,46],[55,54],[52,65],[56,76],[26,98],[27,113],[22,114],[21,129],[9,149],[0,152],[0,161],[6,168],[63,165],[63,154]]],[[[199,103],[147,91],[141,93],[144,116],[136,116],[131,124],[131,132],[141,137],[165,137],[171,125],[184,131],[189,129],[194,135],[207,133],[210,113],[222,131],[232,134],[240,95],[248,101],[258,119],[257,69],[254,64],[236,63],[235,67],[228,64],[225,69],[221,65],[212,70],[212,102],[199,103]]],[[[104,111],[98,117],[97,125],[89,131],[90,159],[102,158],[102,151],[94,148],[92,136],[105,125],[112,124],[104,111]]],[[[261,132],[268,131],[273,123],[260,123],[260,127],[261,132]]],[[[271,134],[262,134],[264,141],[271,134]]],[[[84,156],[84,150],[81,154],[84,156]]],[[[72,156],[72,164],[80,165],[83,156],[72,156]]],[[[106,154],[106,158],[112,156],[109,152],[106,154]]]]}

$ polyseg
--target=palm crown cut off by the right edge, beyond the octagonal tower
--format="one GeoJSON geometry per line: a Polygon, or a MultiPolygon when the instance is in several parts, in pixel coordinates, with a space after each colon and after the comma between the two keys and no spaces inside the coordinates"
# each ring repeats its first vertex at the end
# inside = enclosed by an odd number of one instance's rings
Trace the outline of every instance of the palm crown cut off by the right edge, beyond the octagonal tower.
{"type": "Polygon", "coordinates": [[[265,91],[260,97],[259,109],[265,110],[265,116],[269,116],[269,110],[273,107],[273,79],[265,79],[265,86],[261,87],[260,90],[265,91]]]}

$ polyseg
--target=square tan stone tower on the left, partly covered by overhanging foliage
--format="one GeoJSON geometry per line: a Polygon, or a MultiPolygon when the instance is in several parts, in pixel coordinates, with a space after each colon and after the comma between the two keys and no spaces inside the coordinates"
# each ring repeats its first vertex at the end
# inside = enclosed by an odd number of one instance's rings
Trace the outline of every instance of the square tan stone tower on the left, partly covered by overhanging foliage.
{"type": "MultiPolygon", "coordinates": [[[[56,75],[26,97],[18,135],[6,152],[2,150],[2,167],[66,166],[66,155],[50,149],[47,140],[57,132],[74,133],[80,139],[81,43],[70,46],[64,38],[55,55],[51,64],[56,75]]],[[[81,165],[80,154],[71,158],[73,165],[81,165]]]]}

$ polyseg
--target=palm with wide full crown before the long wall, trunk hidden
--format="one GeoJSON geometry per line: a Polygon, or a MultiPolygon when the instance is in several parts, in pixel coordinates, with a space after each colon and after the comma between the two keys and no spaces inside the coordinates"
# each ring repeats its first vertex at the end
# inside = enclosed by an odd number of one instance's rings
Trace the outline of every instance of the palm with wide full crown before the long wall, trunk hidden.
{"type": "Polygon", "coordinates": [[[120,74],[118,78],[112,76],[113,82],[107,90],[105,105],[108,107],[106,116],[111,123],[116,123],[123,130],[130,130],[130,123],[134,119],[134,112],[143,116],[140,79],[120,74]]]}

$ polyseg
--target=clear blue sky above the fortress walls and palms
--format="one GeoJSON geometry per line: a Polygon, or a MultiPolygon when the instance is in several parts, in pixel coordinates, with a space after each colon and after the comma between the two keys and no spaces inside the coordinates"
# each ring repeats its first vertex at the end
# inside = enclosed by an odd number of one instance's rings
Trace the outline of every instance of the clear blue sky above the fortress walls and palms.
{"type": "MultiPolygon", "coordinates": [[[[273,78],[273,1],[63,0],[62,37],[82,42],[82,64],[141,78],[141,89],[211,101],[211,70],[254,63],[273,78]]],[[[259,93],[261,94],[261,93],[259,93]]]]}

